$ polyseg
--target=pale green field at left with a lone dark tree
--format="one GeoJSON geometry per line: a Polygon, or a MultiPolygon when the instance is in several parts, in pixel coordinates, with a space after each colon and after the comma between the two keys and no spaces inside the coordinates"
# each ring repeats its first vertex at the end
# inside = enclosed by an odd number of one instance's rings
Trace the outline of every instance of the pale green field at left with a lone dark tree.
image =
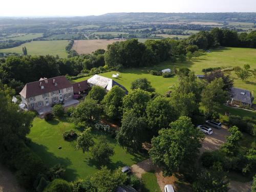
{"type": "Polygon", "coordinates": [[[59,57],[67,57],[68,53],[65,47],[68,40],[43,40],[26,42],[18,47],[9,49],[0,49],[0,53],[22,53],[22,48],[26,47],[29,55],[58,55],[59,57]]]}

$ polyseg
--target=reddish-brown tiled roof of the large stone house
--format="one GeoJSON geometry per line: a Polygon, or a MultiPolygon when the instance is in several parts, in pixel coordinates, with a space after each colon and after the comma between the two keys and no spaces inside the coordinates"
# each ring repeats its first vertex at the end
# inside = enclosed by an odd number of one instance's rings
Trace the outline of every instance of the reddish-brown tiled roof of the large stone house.
{"type": "Polygon", "coordinates": [[[29,98],[68,87],[72,87],[72,84],[65,76],[58,76],[49,79],[41,78],[39,81],[27,83],[19,94],[24,98],[29,98]],[[44,89],[41,89],[41,86],[44,86],[44,89]]]}

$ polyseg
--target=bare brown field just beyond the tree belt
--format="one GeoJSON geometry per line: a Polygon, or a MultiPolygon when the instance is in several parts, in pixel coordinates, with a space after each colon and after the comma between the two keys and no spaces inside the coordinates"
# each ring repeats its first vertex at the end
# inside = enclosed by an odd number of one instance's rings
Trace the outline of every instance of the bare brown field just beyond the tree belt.
{"type": "Polygon", "coordinates": [[[106,40],[106,39],[88,39],[88,40],[75,40],[73,48],[79,54],[92,53],[97,49],[106,49],[109,44],[120,40],[106,40]]]}

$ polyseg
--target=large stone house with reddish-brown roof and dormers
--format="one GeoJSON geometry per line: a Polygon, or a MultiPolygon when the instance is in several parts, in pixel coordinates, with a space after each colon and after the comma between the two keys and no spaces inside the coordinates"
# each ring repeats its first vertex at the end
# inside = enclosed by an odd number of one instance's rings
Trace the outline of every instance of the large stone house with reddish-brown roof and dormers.
{"type": "Polygon", "coordinates": [[[58,76],[27,83],[19,94],[28,110],[36,110],[42,106],[51,106],[53,103],[71,99],[74,92],[68,79],[65,76],[58,76]]]}

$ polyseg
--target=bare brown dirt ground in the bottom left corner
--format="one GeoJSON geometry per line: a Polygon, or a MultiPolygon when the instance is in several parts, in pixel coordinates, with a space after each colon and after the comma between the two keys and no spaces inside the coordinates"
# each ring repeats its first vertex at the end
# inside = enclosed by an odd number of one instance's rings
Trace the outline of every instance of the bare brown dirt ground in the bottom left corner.
{"type": "Polygon", "coordinates": [[[0,192],[25,192],[17,184],[15,176],[0,164],[0,192]]]}

